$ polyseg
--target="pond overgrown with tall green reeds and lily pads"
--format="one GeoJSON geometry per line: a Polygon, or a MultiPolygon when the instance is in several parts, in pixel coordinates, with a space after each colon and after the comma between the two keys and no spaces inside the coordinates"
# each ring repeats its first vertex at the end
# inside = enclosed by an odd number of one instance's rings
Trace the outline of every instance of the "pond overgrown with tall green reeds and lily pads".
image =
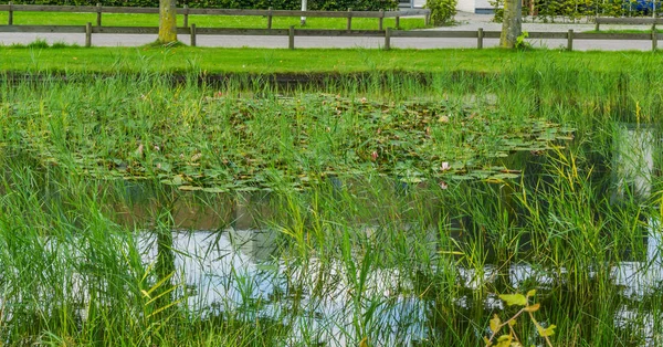
{"type": "MultiPolygon", "coordinates": [[[[663,80],[650,67],[375,74],[322,88],[149,73],[4,82],[2,335],[482,345],[494,314],[517,311],[497,295],[537,290],[555,346],[656,344],[660,284],[618,273],[657,266],[646,254],[661,230],[646,223],[662,217],[660,172],[651,197],[612,198],[617,129],[660,134],[663,80]],[[196,307],[214,293],[187,283],[176,259],[239,256],[219,251],[233,227],[272,232],[270,256],[230,262],[215,274],[222,299],[196,307]],[[175,246],[200,230],[212,232],[202,254],[175,246]]],[[[516,329],[544,344],[532,323],[516,329]]]]}

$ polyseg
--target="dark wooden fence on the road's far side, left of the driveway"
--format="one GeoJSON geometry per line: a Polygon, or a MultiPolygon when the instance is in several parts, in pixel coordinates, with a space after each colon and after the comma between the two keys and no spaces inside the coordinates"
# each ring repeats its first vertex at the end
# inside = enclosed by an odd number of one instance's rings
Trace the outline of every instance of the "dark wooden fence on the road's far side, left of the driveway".
{"type": "MultiPolygon", "coordinates": [[[[96,27],[102,27],[102,13],[159,13],[158,8],[126,8],[126,7],[103,7],[97,6],[45,6],[45,4],[0,4],[0,11],[7,11],[8,25],[13,25],[14,12],[77,12],[96,13],[96,27]]],[[[429,25],[431,10],[399,10],[399,11],[295,11],[295,10],[234,10],[234,9],[189,9],[188,7],[178,8],[177,13],[183,15],[183,27],[189,27],[190,14],[208,15],[254,15],[266,17],[267,29],[272,29],[272,19],[274,17],[312,17],[312,18],[346,18],[347,30],[351,30],[352,18],[376,18],[378,19],[378,30],[383,30],[385,18],[396,18],[396,28],[400,25],[401,17],[423,15],[425,25],[429,25]]]]}

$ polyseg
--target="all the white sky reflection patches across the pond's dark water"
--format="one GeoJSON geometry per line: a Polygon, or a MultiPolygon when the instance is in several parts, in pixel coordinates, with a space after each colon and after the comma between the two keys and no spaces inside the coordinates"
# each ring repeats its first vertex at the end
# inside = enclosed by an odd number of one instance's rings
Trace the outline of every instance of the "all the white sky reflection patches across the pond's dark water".
{"type": "MultiPolygon", "coordinates": [[[[274,243],[264,242],[274,240],[274,232],[255,232],[260,240],[251,240],[255,242],[251,248],[242,243],[246,240],[233,240],[232,233],[231,230],[223,233],[173,233],[176,281],[185,283],[187,288],[187,293],[180,295],[186,294],[188,308],[203,318],[229,312],[240,313],[249,322],[256,317],[272,318],[291,326],[292,335],[288,338],[292,341],[298,340],[304,335],[301,329],[306,328],[319,332],[318,339],[332,346],[350,343],[343,332],[355,329],[352,317],[356,311],[362,314],[372,312],[369,315],[372,320],[366,324],[381,332],[380,339],[385,344],[425,340],[435,334],[430,330],[429,322],[440,319],[431,316],[432,312],[436,312],[435,299],[417,295],[417,283],[397,269],[373,270],[365,292],[360,293],[360,306],[356,307],[357,293],[351,291],[348,269],[343,262],[320,263],[311,260],[307,266],[298,266],[283,260],[267,261],[256,255],[274,251],[274,243]]],[[[252,231],[242,233],[248,236],[252,231]]],[[[151,233],[139,236],[146,263],[157,259],[154,238],[151,233]]],[[[648,262],[624,262],[613,267],[615,284],[627,288],[624,295],[638,299],[660,290],[663,281],[660,242],[660,238],[650,239],[652,253],[648,262]]],[[[480,282],[495,281],[501,271],[488,264],[480,280],[475,271],[459,269],[460,284],[469,292],[455,299],[457,309],[475,309],[473,307],[478,305],[483,314],[484,309],[504,308],[493,294],[484,297],[483,303],[475,302],[472,294],[472,288],[477,290],[480,282]]],[[[536,281],[543,287],[551,288],[557,281],[549,272],[528,264],[513,265],[508,275],[513,287],[519,287],[526,281],[536,281]]],[[[423,281],[430,283],[429,280],[423,281]]],[[[628,317],[629,311],[624,307],[615,317],[615,324],[625,324],[628,317]]],[[[654,336],[653,320],[643,324],[649,328],[644,336],[654,336]]]]}

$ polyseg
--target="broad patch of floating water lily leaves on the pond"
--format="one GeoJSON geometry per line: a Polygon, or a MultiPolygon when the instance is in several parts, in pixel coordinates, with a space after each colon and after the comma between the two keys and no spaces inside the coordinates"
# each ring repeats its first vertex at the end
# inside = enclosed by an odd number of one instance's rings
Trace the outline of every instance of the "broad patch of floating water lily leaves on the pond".
{"type": "Polygon", "coordinates": [[[512,179],[498,159],[540,151],[571,130],[446,101],[358,95],[230,95],[199,87],[106,81],[20,91],[2,105],[2,143],[48,165],[106,178],[156,178],[228,191],[326,176],[390,175],[407,182],[512,179]],[[117,93],[122,88],[123,93],[117,93]],[[36,95],[36,97],[35,97],[36,95]]]}

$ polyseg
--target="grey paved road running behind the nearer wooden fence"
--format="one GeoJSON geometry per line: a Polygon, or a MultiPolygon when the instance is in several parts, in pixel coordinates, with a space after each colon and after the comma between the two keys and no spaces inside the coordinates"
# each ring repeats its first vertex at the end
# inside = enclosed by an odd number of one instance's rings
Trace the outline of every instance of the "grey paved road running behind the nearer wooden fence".
{"type": "MultiPolygon", "coordinates": [[[[430,30],[472,30],[483,28],[485,31],[499,31],[502,24],[493,23],[492,14],[474,14],[459,12],[456,15],[457,25],[436,28],[430,30]]],[[[575,32],[593,30],[592,23],[537,23],[525,22],[523,30],[525,31],[549,31],[549,32],[567,32],[572,29],[575,32]]],[[[608,30],[611,28],[629,29],[644,27],[610,27],[602,25],[601,29],[608,30]]],[[[83,34],[65,34],[65,33],[0,33],[1,44],[11,43],[30,43],[36,39],[46,40],[50,43],[65,42],[75,43],[78,45],[85,44],[83,34]]],[[[136,35],[136,34],[94,34],[92,39],[93,45],[97,46],[137,46],[150,43],[156,38],[152,35],[136,35]]],[[[182,42],[188,43],[189,36],[181,35],[182,42]]],[[[276,36],[203,36],[197,38],[199,46],[227,46],[227,48],[287,48],[287,38],[276,36]]],[[[484,46],[496,46],[498,40],[486,39],[484,46]]],[[[530,40],[535,46],[545,46],[549,49],[565,48],[566,40],[530,40]]],[[[377,38],[295,38],[296,48],[380,48],[385,44],[383,39],[377,38]]],[[[392,48],[401,49],[443,49],[443,48],[476,48],[476,39],[412,39],[412,38],[393,38],[391,39],[392,48]]],[[[587,50],[641,50],[649,51],[652,45],[650,41],[617,41],[617,40],[573,40],[573,49],[580,51],[587,50]]]]}

